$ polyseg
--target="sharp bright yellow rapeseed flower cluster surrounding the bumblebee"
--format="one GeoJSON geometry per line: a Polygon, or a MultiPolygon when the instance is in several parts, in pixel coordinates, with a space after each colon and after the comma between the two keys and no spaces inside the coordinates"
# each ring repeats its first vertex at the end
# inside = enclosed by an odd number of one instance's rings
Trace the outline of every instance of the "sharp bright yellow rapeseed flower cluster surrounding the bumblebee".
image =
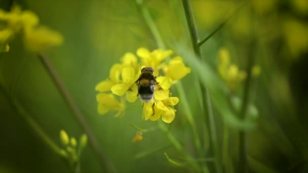
{"type": "Polygon", "coordinates": [[[99,82],[95,90],[98,102],[98,113],[105,114],[110,110],[121,112],[125,109],[125,100],[135,102],[138,98],[137,79],[141,74],[141,68],[151,67],[159,84],[155,85],[154,99],[143,103],[143,119],[156,121],[160,117],[164,122],[170,123],[175,118],[176,110],[173,106],[179,102],[177,97],[170,97],[172,84],[190,73],[181,57],[176,56],[167,62],[171,56],[171,50],[153,50],[139,48],[136,55],[128,52],[121,58],[121,63],[113,64],[109,71],[109,77],[99,82]],[[138,61],[138,58],[139,61],[138,61]],[[164,74],[164,75],[161,75],[164,74]],[[120,96],[118,101],[114,97],[120,96]]]}

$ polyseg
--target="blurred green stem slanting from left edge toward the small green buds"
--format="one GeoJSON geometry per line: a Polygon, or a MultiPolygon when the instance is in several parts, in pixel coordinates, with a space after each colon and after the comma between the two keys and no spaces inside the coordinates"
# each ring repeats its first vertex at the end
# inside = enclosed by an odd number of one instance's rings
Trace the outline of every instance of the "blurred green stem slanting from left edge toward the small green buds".
{"type": "Polygon", "coordinates": [[[24,109],[24,107],[9,93],[6,91],[4,86],[0,83],[0,90],[3,92],[5,98],[8,100],[10,106],[21,115],[26,122],[30,125],[33,131],[41,137],[41,139],[49,146],[55,153],[59,154],[62,157],[65,157],[65,153],[61,148],[57,146],[57,144],[43,131],[43,129],[38,125],[35,120],[29,115],[29,113],[24,109]]]}

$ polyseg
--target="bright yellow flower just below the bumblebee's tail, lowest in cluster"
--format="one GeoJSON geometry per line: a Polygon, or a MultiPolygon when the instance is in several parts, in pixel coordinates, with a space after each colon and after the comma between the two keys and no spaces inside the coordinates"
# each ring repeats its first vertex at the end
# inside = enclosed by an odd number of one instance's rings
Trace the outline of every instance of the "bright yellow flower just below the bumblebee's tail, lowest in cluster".
{"type": "MultiPolygon", "coordinates": [[[[153,101],[154,102],[154,101],[153,101]]],[[[176,105],[179,102],[177,97],[169,97],[165,100],[158,101],[154,107],[153,102],[144,103],[143,105],[143,116],[145,120],[156,121],[160,117],[167,123],[171,123],[175,118],[176,110],[171,106],[176,105]],[[154,111],[154,112],[153,112],[154,111]]]]}

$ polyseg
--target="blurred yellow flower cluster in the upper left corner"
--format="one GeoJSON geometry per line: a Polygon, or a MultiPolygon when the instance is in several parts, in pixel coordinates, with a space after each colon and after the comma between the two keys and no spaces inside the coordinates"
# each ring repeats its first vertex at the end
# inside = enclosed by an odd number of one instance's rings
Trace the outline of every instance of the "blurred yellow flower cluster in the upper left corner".
{"type": "Polygon", "coordinates": [[[19,33],[22,33],[26,49],[34,53],[63,42],[62,35],[40,25],[33,12],[22,11],[19,6],[13,6],[10,12],[0,9],[0,52],[8,52],[9,41],[19,33]]]}

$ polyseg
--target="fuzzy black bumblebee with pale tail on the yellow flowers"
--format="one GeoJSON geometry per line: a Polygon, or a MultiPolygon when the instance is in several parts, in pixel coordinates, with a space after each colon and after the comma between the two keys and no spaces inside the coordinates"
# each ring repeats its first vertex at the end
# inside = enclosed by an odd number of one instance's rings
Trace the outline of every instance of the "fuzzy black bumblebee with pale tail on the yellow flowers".
{"type": "Polygon", "coordinates": [[[138,96],[144,102],[150,102],[154,99],[154,87],[159,84],[154,76],[154,70],[151,67],[141,69],[140,77],[136,80],[138,85],[138,96]]]}

